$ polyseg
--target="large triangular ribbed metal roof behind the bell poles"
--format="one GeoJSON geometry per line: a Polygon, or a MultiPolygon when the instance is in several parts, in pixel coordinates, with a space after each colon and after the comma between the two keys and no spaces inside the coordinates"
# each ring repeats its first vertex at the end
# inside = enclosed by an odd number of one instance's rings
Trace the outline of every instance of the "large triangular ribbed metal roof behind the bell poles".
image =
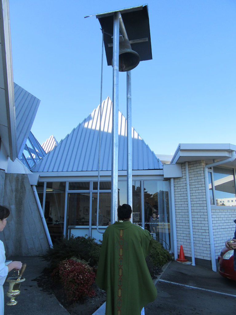
{"type": "MultiPolygon", "coordinates": [[[[112,102],[102,103],[100,170],[111,170],[112,102]]],[[[100,105],[43,157],[32,172],[97,171],[100,105]]],[[[126,118],[119,112],[118,170],[126,170],[126,118]]],[[[132,169],[162,169],[162,163],[132,128],[132,169]]]]}

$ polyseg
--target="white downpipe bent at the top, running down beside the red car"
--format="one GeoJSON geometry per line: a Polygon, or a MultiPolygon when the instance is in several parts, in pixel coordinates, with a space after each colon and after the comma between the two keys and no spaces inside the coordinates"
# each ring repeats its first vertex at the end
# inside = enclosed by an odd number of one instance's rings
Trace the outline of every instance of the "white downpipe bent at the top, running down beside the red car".
{"type": "Polygon", "coordinates": [[[233,162],[236,159],[236,153],[233,151],[231,157],[223,161],[218,161],[215,163],[207,164],[204,167],[204,180],[205,180],[205,192],[206,192],[206,208],[207,208],[207,220],[208,220],[208,230],[209,230],[209,239],[210,239],[210,250],[211,250],[211,266],[212,270],[216,272],[216,254],[215,254],[215,244],[213,236],[213,226],[212,226],[212,216],[211,216],[211,203],[210,203],[210,193],[209,193],[209,181],[208,181],[208,169],[213,166],[220,164],[233,162]]]}

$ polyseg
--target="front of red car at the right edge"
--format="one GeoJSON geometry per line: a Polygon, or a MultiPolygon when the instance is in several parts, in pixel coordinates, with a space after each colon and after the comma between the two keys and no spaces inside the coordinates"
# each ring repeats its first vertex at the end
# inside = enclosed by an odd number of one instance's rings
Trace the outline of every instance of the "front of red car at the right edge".
{"type": "Polygon", "coordinates": [[[220,275],[236,281],[236,271],[233,268],[233,249],[224,247],[218,256],[218,263],[220,275]]]}

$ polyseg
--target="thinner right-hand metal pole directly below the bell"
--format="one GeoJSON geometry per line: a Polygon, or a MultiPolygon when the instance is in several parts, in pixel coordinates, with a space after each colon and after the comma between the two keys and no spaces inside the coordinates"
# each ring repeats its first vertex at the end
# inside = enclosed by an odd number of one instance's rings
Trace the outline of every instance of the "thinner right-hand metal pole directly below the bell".
{"type": "MultiPolygon", "coordinates": [[[[126,74],[127,99],[127,203],[132,207],[132,102],[131,102],[131,71],[126,74]]],[[[131,216],[133,222],[133,216],[131,216]]]]}

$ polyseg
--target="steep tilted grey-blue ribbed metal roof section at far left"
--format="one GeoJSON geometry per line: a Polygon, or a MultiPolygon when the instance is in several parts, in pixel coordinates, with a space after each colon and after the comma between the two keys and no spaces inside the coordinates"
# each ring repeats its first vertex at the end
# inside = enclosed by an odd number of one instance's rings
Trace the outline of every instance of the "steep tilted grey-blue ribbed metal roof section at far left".
{"type": "Polygon", "coordinates": [[[16,137],[18,158],[22,156],[40,100],[14,83],[16,137]]]}

